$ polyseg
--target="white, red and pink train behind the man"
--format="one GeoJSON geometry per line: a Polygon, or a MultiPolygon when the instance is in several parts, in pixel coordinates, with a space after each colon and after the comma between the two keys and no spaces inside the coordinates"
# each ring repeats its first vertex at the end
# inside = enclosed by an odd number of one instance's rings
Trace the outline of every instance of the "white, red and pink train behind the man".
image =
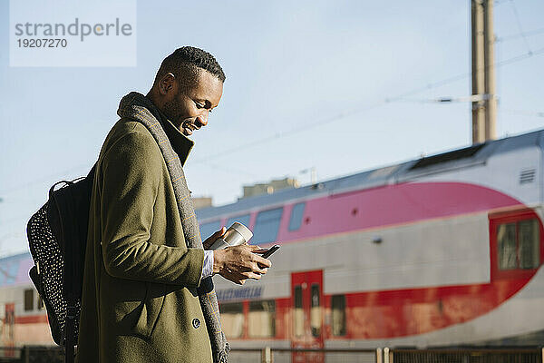
{"type": "MultiPolygon", "coordinates": [[[[231,347],[540,345],[543,147],[544,129],[198,210],[203,238],[238,221],[281,246],[261,280],[214,277],[231,347]]],[[[3,346],[53,344],[31,266],[0,260],[3,346]]]]}

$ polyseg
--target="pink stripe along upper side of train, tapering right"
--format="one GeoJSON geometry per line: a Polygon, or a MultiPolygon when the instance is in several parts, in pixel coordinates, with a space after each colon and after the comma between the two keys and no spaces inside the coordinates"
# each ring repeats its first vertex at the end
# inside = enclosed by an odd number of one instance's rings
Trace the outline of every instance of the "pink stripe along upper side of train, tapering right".
{"type": "Polygon", "coordinates": [[[306,201],[297,231],[288,231],[292,209],[288,205],[277,240],[301,240],[522,205],[500,191],[463,182],[387,185],[306,201]]]}

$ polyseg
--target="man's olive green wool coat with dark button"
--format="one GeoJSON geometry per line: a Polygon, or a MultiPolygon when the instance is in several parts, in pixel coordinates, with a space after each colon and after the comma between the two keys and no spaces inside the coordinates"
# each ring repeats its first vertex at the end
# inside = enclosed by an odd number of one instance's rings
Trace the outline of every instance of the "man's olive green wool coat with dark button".
{"type": "MultiPolygon", "coordinates": [[[[171,132],[183,164],[192,142],[171,132]]],[[[186,246],[166,163],[141,123],[121,119],[102,145],[89,220],[76,361],[211,362],[196,290],[204,250],[186,246]]]]}

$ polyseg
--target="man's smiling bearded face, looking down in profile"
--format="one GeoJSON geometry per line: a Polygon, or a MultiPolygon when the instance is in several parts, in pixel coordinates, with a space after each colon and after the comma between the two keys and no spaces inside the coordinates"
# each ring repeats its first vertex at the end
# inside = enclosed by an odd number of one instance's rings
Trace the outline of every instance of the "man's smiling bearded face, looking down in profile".
{"type": "Polygon", "coordinates": [[[208,71],[199,70],[194,85],[180,87],[174,80],[172,88],[165,96],[162,112],[185,136],[208,124],[211,110],[218,106],[223,94],[223,83],[208,71]]]}

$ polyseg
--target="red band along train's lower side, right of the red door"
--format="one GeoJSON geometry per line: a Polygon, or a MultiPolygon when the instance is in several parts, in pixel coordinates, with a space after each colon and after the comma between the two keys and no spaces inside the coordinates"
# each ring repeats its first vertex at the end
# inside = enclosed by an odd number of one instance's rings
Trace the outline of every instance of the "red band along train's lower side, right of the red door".
{"type": "MultiPolygon", "coordinates": [[[[529,279],[500,280],[480,285],[346,294],[346,335],[342,338],[399,338],[460,324],[496,309],[527,282],[529,279]]],[[[328,308],[330,298],[325,297],[328,308]]],[[[327,328],[326,338],[335,338],[327,328]]]]}

